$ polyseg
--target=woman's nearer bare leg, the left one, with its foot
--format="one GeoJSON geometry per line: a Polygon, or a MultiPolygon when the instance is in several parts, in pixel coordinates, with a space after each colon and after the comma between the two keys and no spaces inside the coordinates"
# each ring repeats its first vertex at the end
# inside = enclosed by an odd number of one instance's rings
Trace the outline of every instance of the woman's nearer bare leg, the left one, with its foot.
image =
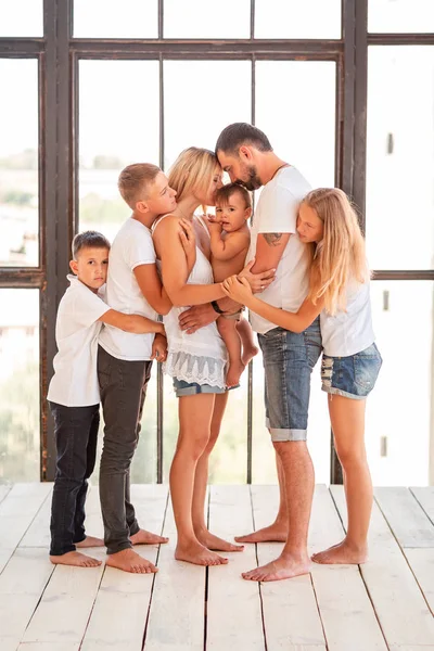
{"type": "Polygon", "coordinates": [[[175,558],[196,565],[227,562],[197,540],[191,516],[195,470],[209,439],[213,408],[214,394],[179,398],[179,436],[170,468],[170,495],[178,532],[175,558]]]}

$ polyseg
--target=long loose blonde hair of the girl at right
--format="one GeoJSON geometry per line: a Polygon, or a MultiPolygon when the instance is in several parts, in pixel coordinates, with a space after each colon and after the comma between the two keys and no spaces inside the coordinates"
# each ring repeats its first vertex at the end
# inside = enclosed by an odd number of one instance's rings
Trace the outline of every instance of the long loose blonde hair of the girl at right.
{"type": "Polygon", "coordinates": [[[331,315],[346,308],[348,281],[367,282],[365,240],[357,214],[347,195],[337,188],[320,188],[305,196],[303,203],[312,208],[323,222],[323,238],[317,244],[310,266],[308,298],[324,298],[331,315]]]}

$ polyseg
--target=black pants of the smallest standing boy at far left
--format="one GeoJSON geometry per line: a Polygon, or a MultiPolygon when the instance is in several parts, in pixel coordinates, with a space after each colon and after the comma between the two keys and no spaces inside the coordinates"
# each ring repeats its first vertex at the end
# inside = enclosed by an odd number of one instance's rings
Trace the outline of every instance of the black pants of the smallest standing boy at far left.
{"type": "Polygon", "coordinates": [[[65,407],[50,403],[54,418],[56,470],[51,503],[51,556],[75,550],[86,538],[87,480],[97,457],[100,406],[65,407]]]}

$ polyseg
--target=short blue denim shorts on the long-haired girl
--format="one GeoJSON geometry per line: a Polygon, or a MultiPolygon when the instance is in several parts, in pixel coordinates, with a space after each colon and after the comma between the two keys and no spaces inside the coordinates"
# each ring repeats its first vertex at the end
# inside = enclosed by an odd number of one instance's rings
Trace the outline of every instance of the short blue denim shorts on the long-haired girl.
{"type": "Polygon", "coordinates": [[[322,356],[322,391],[365,400],[373,390],[383,360],[375,344],[348,357],[322,356]]]}

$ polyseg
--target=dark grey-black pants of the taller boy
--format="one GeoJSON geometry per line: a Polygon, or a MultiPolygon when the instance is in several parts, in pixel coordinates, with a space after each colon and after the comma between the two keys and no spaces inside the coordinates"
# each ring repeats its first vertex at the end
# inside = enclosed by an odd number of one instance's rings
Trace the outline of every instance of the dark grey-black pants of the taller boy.
{"type": "Polygon", "coordinates": [[[140,421],[152,361],[125,361],[98,347],[98,380],[104,414],[100,499],[107,553],[131,547],[139,531],[130,501],[130,465],[139,443],[140,421]]]}

